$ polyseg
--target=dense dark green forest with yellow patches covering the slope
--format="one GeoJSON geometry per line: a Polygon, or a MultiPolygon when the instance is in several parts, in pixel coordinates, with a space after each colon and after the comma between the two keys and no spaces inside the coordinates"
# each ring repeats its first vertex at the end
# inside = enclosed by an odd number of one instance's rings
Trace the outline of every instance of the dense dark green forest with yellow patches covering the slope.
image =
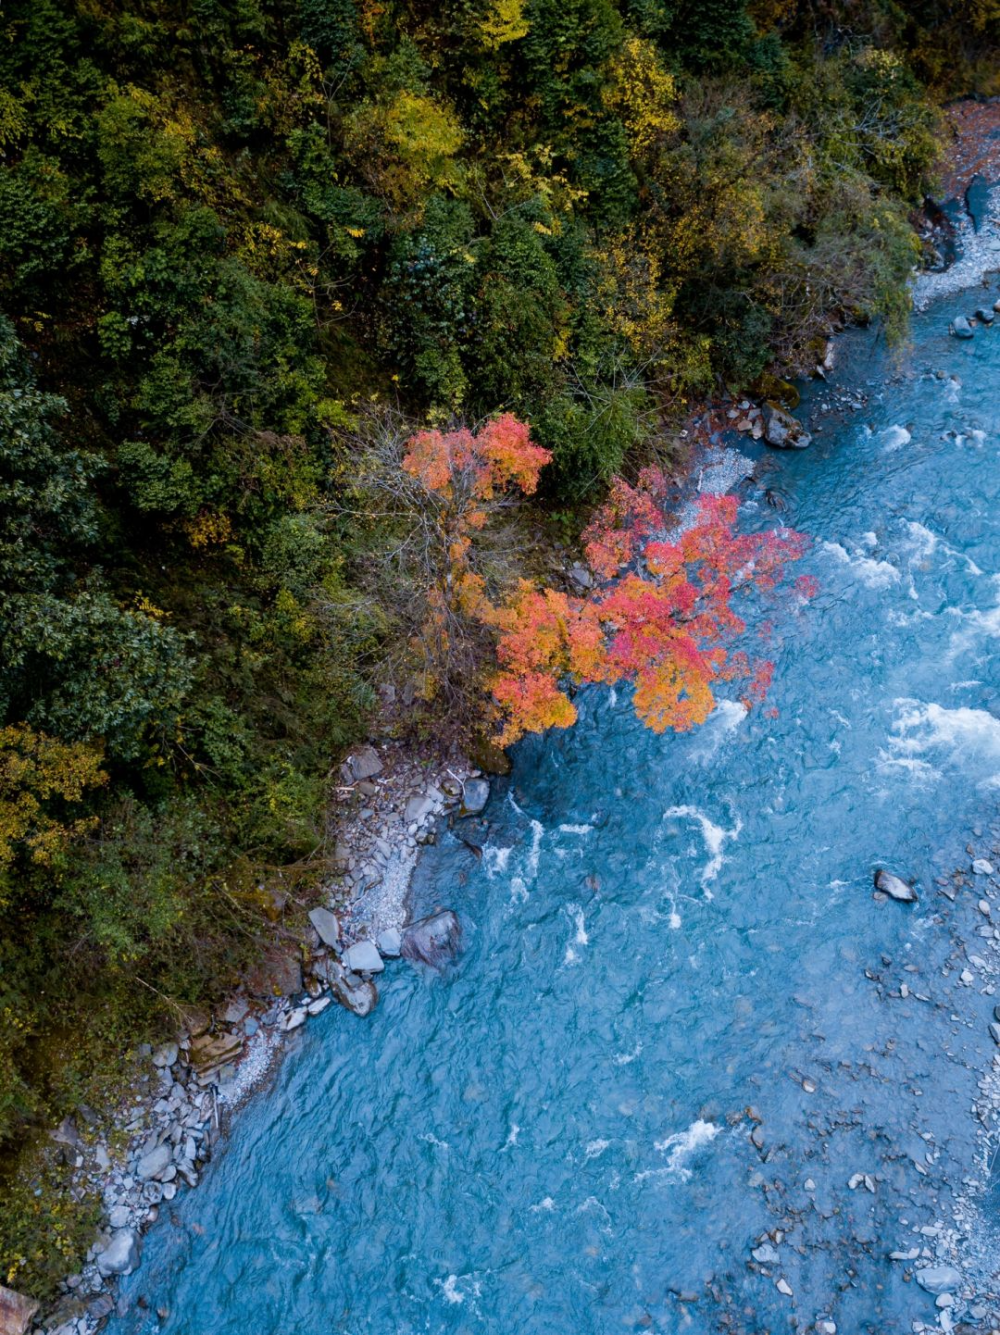
{"type": "MultiPolygon", "coordinates": [[[[359,400],[530,419],[571,507],[672,406],[809,363],[832,320],[899,328],[927,88],[988,85],[1000,7],[12,0],[0,27],[9,1151],[319,865],[393,633],[343,503],[359,400]]],[[[0,1280],[41,1292],[63,1226],[21,1196],[0,1280]]]]}

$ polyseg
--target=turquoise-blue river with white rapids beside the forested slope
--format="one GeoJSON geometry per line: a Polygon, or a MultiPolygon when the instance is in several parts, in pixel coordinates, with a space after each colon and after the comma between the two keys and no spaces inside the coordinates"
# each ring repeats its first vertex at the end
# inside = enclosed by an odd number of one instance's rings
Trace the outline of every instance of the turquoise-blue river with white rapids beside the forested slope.
{"type": "Polygon", "coordinates": [[[813,538],[817,597],[769,613],[777,716],[722,701],[657,737],[594,689],[522,744],[463,829],[482,861],[445,834],[418,869],[418,906],[462,918],[457,965],[390,965],[370,1019],[296,1035],[164,1207],[113,1335],[891,1335],[992,1310],[972,1107],[1000,955],[971,861],[1000,844],[1000,324],[947,324],[993,295],[937,298],[901,358],[841,340],[866,403],[812,386],[809,450],[738,445],[764,469],[745,522],[813,538]],[[920,902],[873,898],[879,866],[920,902]],[[943,1312],[912,1279],[936,1259],[964,1278],[943,1312]]]}

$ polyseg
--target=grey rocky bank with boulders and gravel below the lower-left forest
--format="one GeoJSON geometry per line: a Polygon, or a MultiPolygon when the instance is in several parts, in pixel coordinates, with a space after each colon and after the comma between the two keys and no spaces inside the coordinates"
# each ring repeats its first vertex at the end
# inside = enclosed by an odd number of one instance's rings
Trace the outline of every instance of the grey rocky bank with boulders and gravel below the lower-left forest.
{"type": "Polygon", "coordinates": [[[335,876],[302,937],[275,940],[223,1007],[184,1012],[174,1040],[139,1049],[111,1129],[81,1109],[52,1133],[76,1188],[100,1195],[104,1222],[52,1311],[0,1287],[0,1335],[97,1330],[116,1310],[117,1276],[139,1264],[143,1232],[179,1191],[198,1185],[227,1119],[288,1037],[334,1003],[368,1015],[379,985],[389,985],[389,961],[435,968],[447,960],[458,918],[446,910],[410,922],[410,878],[421,846],[446,821],[482,812],[489,794],[489,781],[458,757],[370,745],[346,758],[331,817],[335,876]]]}

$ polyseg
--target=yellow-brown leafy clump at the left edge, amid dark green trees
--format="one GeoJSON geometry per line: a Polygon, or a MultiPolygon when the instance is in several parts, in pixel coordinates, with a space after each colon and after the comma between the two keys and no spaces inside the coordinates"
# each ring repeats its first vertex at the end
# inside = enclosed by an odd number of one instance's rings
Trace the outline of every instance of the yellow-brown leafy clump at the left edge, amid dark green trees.
{"type": "Polygon", "coordinates": [[[96,825],[96,817],[56,816],[49,804],[59,809],[79,802],[88,788],[104,785],[101,760],[97,746],[63,742],[27,724],[0,729],[0,869],[9,868],[19,850],[49,866],[96,825]]]}

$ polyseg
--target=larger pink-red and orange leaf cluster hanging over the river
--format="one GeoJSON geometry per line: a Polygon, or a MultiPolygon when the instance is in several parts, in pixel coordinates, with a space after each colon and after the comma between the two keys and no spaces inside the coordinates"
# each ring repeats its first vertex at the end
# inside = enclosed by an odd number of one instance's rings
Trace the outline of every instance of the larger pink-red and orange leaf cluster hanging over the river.
{"type": "MultiPolygon", "coordinates": [[[[502,745],[574,722],[563,689],[573,681],[633,684],[636,712],[654,732],[704,722],[718,681],[745,680],[748,706],[764,698],[773,665],[732,651],[745,630],[732,599],[774,589],[805,539],[788,531],[737,533],[732,497],[702,498],[694,523],[669,541],[653,537],[666,527],[664,491],[656,470],[636,487],[617,481],[585,534],[591,566],[614,582],[586,598],[522,583],[491,613],[499,662],[491,690],[502,745]],[[637,567],[621,574],[632,562],[637,567]]],[[[814,586],[800,581],[797,590],[809,597],[814,586]]]]}

